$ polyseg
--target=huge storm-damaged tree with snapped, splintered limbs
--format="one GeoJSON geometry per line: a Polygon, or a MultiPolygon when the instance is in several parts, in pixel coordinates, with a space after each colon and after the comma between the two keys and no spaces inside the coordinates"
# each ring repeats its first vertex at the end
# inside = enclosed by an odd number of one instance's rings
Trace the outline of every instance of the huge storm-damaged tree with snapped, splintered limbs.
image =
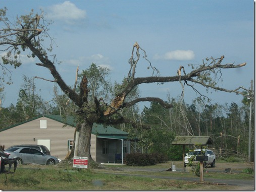
{"type": "MultiPolygon", "coordinates": [[[[41,66],[47,68],[53,76],[53,80],[47,80],[56,82],[61,90],[74,102],[77,106],[77,125],[76,132],[79,132],[79,140],[75,142],[77,145],[77,155],[88,157],[89,163],[93,162],[90,155],[90,137],[92,131],[93,123],[101,123],[105,125],[111,124],[119,124],[119,123],[131,123],[134,126],[146,126],[141,125],[139,122],[126,119],[120,113],[119,110],[121,108],[130,107],[138,102],[142,101],[156,101],[160,103],[165,108],[173,107],[171,104],[166,103],[160,98],[155,97],[145,97],[145,98],[137,98],[133,101],[126,102],[126,96],[131,92],[131,90],[140,84],[145,83],[165,83],[165,82],[180,82],[182,85],[182,89],[184,90],[184,86],[191,87],[194,91],[199,93],[198,90],[194,88],[194,84],[200,84],[207,89],[212,88],[215,90],[225,91],[225,92],[233,92],[237,94],[241,94],[246,97],[253,98],[253,94],[251,91],[239,87],[234,90],[227,90],[224,88],[220,88],[217,85],[217,80],[221,79],[221,70],[222,69],[233,69],[233,68],[241,68],[246,65],[246,63],[242,63],[240,65],[233,64],[225,64],[222,65],[222,61],[224,56],[220,58],[207,58],[206,63],[203,61],[202,65],[198,68],[193,68],[191,72],[188,74],[185,73],[185,68],[181,66],[178,69],[177,76],[172,77],[160,77],[159,71],[157,68],[152,67],[150,61],[147,60],[145,51],[139,46],[138,43],[135,43],[132,47],[132,55],[129,60],[130,63],[130,71],[127,76],[127,83],[124,84],[123,90],[120,91],[113,98],[113,101],[110,105],[105,103],[103,99],[94,97],[93,103],[88,102],[88,81],[86,76],[83,76],[82,81],[80,83],[80,91],[77,93],[75,91],[75,87],[70,88],[63,80],[59,72],[55,67],[56,56],[52,56],[49,53],[52,51],[52,44],[49,45],[49,48],[45,49],[42,45],[43,38],[50,38],[48,31],[48,24],[43,19],[43,14],[38,15],[34,14],[33,11],[29,15],[21,16],[20,18],[16,18],[15,23],[12,23],[6,17],[7,9],[0,10],[0,45],[1,51],[5,53],[2,57],[4,65],[13,65],[15,67],[19,67],[21,65],[21,61],[19,59],[19,55],[22,51],[29,50],[28,57],[37,57],[40,60],[40,63],[35,63],[37,66],[41,66]],[[136,66],[140,59],[140,52],[144,54],[144,58],[148,61],[149,66],[148,69],[151,68],[153,71],[151,77],[135,77],[136,66]],[[136,57],[134,58],[134,52],[136,52],[136,57]],[[182,71],[181,71],[182,70],[182,71]],[[156,73],[156,74],[155,74],[156,73]],[[183,73],[183,75],[182,75],[183,73]],[[211,77],[213,75],[213,77],[211,77]],[[218,76],[219,75],[219,76],[218,76]],[[189,82],[193,84],[189,84],[189,82]],[[246,91],[246,93],[244,93],[246,91]],[[247,95],[249,93],[249,96],[247,95]]],[[[52,40],[52,39],[50,39],[52,40]]],[[[0,65],[2,65],[0,63],[0,65]]],[[[78,70],[77,70],[78,72],[78,70]]],[[[43,79],[43,78],[41,78],[43,79]]],[[[76,85],[76,83],[75,83],[76,85]]],[[[182,95],[184,91],[182,91],[182,95]]],[[[200,93],[199,93],[200,94],[200,93]]],[[[200,94],[201,95],[201,94],[200,94]]],[[[205,97],[201,95],[202,97],[205,97]]],[[[74,148],[73,148],[74,149],[74,148]]],[[[71,152],[70,158],[73,157],[74,151],[71,152]]]]}

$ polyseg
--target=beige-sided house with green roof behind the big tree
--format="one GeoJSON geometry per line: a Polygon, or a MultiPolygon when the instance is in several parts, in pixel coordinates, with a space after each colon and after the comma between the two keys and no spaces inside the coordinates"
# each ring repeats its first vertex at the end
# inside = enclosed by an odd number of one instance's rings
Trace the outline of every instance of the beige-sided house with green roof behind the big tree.
{"type": "MultiPolygon", "coordinates": [[[[45,145],[52,156],[63,160],[73,147],[76,122],[73,117],[41,115],[0,130],[0,145],[45,145]]],[[[128,133],[112,126],[93,124],[91,157],[98,163],[115,162],[130,152],[128,133]]]]}

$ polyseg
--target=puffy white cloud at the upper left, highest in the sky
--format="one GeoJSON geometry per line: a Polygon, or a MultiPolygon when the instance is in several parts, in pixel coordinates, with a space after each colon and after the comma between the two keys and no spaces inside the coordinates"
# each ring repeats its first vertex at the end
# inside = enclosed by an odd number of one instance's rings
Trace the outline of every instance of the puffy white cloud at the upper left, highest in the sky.
{"type": "Polygon", "coordinates": [[[72,24],[73,21],[85,19],[86,12],[85,10],[77,8],[75,4],[66,1],[63,4],[56,4],[52,7],[48,7],[47,17],[54,21],[62,20],[72,24]]]}

